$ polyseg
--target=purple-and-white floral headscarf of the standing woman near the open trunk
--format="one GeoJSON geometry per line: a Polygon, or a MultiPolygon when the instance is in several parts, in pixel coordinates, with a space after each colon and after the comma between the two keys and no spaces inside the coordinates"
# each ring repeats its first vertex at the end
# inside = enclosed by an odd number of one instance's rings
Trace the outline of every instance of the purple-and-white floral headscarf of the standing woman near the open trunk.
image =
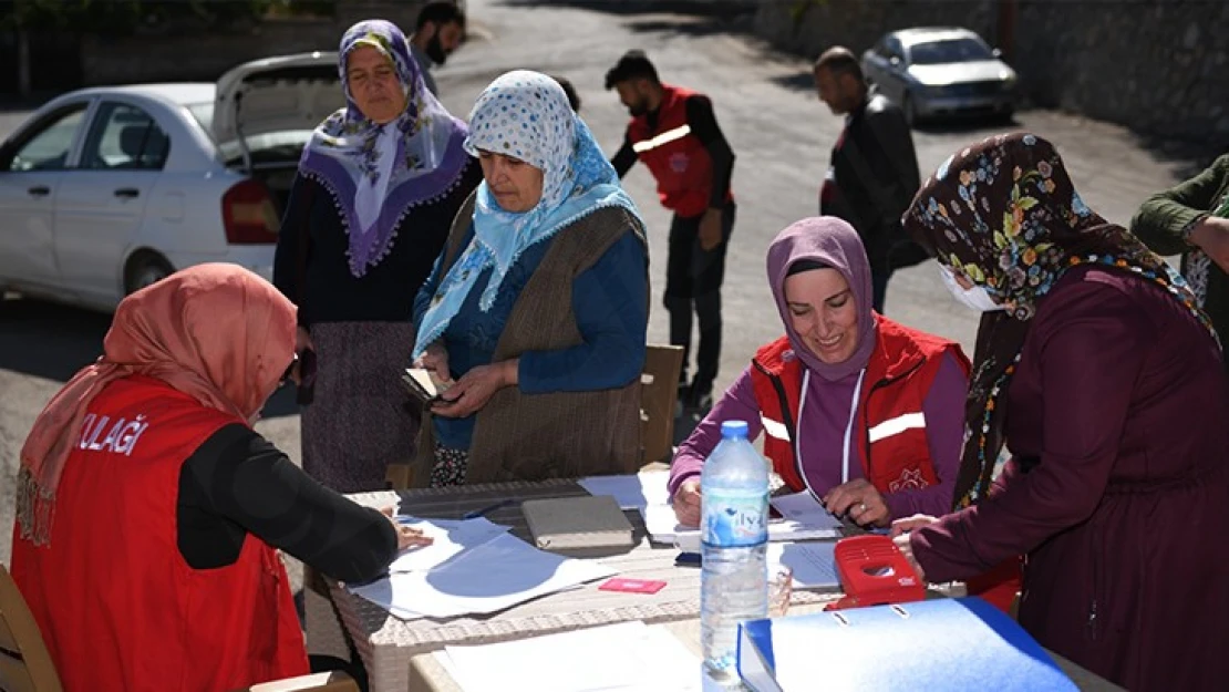
{"type": "Polygon", "coordinates": [[[345,108],[312,133],[299,172],[332,194],[349,234],[350,273],[361,278],[392,250],[397,225],[410,208],[460,182],[468,162],[462,147],[467,129],[428,91],[406,36],[391,22],[351,26],[342,37],[338,71],[345,108]],[[350,97],[345,63],[360,47],[382,53],[406,92],[406,111],[391,123],[369,120],[350,97]]]}

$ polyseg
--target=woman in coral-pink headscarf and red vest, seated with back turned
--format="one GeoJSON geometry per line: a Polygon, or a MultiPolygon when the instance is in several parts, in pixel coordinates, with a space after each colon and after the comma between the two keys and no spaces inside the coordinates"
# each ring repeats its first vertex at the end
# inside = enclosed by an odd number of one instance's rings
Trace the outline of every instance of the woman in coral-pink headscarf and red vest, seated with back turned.
{"type": "Polygon", "coordinates": [[[234,264],[124,299],[21,451],[12,576],[69,692],[306,674],[281,548],[347,581],[423,541],[252,430],[294,375],[295,307],[234,264]]]}

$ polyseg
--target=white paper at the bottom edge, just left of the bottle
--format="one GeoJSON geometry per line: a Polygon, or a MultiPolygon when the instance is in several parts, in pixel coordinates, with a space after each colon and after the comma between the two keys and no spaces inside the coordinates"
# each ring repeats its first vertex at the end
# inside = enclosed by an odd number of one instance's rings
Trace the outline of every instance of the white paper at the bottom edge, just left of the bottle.
{"type": "Polygon", "coordinates": [[[436,654],[465,692],[701,690],[699,659],[676,637],[623,622],[436,654]]]}

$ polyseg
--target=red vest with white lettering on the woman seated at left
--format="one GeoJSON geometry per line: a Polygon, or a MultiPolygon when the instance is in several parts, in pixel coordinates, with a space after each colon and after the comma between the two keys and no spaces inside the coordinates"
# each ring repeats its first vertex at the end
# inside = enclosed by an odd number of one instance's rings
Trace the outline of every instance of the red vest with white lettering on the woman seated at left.
{"type": "Polygon", "coordinates": [[[308,672],[277,552],[254,536],[229,567],[177,546],[183,462],[237,418],[133,376],[88,407],[48,546],[15,531],[12,576],[66,692],[222,691],[308,672]]]}

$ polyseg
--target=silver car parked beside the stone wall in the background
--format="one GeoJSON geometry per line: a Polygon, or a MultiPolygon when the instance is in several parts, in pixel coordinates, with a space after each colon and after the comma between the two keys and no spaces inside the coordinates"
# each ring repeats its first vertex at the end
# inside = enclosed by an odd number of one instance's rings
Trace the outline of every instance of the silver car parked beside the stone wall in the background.
{"type": "Polygon", "coordinates": [[[1009,119],[1015,111],[1015,70],[965,28],[895,31],[863,54],[862,69],[909,124],[955,114],[1009,119]]]}

